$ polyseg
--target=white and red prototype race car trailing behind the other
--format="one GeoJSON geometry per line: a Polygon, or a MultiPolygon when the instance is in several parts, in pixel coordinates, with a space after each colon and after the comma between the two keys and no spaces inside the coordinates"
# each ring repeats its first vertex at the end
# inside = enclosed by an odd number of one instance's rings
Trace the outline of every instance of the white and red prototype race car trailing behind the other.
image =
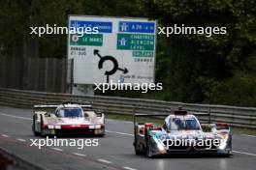
{"type": "Polygon", "coordinates": [[[35,135],[105,134],[105,116],[91,105],[64,102],[60,105],[34,105],[32,130],[35,135]],[[51,110],[51,111],[50,111],[51,110]]]}

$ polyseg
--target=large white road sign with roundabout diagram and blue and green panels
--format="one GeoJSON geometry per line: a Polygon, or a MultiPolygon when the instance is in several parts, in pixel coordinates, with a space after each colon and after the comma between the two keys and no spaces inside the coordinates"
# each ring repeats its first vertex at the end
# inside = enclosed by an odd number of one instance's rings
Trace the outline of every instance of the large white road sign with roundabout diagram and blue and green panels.
{"type": "Polygon", "coordinates": [[[75,84],[154,82],[155,20],[71,15],[71,29],[77,30],[68,36],[75,84]]]}

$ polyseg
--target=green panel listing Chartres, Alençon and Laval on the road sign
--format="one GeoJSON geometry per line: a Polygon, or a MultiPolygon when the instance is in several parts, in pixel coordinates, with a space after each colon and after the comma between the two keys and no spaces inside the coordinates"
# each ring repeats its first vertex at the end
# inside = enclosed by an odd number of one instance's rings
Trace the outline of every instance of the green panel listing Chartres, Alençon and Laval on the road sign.
{"type": "Polygon", "coordinates": [[[122,50],[154,50],[154,35],[117,34],[117,49],[122,50]]]}

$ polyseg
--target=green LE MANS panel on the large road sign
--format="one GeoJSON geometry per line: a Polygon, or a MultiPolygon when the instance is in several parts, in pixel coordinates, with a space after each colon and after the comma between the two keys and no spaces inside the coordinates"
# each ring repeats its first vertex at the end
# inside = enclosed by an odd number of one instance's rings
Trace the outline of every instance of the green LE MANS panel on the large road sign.
{"type": "Polygon", "coordinates": [[[103,35],[102,34],[84,34],[82,37],[78,37],[78,35],[70,35],[70,44],[102,46],[103,35]]]}

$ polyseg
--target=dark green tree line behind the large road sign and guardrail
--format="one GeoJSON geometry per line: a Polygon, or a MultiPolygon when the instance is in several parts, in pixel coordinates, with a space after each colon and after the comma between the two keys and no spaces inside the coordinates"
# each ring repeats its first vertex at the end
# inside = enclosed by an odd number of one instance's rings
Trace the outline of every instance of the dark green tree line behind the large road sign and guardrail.
{"type": "Polygon", "coordinates": [[[107,95],[256,106],[254,0],[1,0],[0,54],[19,56],[16,51],[24,52],[26,42],[37,44],[34,54],[39,57],[66,57],[66,35],[39,39],[30,36],[28,28],[67,26],[68,14],[148,17],[157,19],[159,26],[226,27],[227,34],[210,37],[159,35],[155,78],[163,90],[107,95]]]}

